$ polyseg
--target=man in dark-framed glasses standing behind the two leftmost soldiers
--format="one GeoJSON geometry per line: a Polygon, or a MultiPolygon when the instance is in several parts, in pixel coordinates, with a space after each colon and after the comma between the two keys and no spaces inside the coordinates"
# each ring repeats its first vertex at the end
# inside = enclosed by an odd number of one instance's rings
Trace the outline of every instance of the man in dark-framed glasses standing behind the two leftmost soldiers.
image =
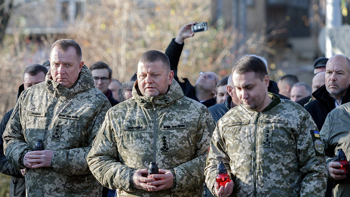
{"type": "Polygon", "coordinates": [[[112,81],[112,70],[105,62],[96,62],[90,67],[92,78],[95,82],[95,87],[105,94],[112,106],[115,106],[119,101],[113,98],[113,93],[108,89],[112,81]]]}

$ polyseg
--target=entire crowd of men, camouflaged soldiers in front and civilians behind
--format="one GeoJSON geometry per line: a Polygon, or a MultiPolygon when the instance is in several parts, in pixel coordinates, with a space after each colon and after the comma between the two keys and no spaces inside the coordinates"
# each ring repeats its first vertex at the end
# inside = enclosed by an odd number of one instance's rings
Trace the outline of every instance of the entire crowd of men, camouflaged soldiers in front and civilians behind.
{"type": "Polygon", "coordinates": [[[309,86],[272,81],[266,59],[246,54],[193,86],[177,74],[193,24],[164,53],[145,52],[124,84],[105,62],[86,66],[71,39],[28,66],[0,124],[10,197],[350,197],[337,155],[350,157],[350,59],[316,59],[309,86]]]}

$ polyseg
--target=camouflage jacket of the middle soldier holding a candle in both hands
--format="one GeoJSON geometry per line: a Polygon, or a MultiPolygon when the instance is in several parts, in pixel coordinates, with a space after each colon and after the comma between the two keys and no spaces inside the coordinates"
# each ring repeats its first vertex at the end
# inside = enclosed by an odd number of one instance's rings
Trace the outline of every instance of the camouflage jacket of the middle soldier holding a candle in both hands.
{"type": "Polygon", "coordinates": [[[187,98],[173,80],[161,96],[133,97],[106,114],[87,157],[92,174],[105,187],[127,197],[200,197],[210,136],[215,128],[204,105],[187,98]],[[135,188],[137,169],[156,161],[173,172],[172,188],[147,192],[135,188]]]}

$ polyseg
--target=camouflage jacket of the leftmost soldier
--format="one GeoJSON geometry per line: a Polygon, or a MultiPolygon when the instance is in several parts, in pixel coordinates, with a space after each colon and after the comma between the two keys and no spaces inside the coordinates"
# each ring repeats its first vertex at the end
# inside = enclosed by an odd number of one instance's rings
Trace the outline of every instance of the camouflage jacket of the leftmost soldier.
{"type": "Polygon", "coordinates": [[[29,197],[96,197],[102,185],[91,174],[86,157],[110,108],[105,95],[94,87],[83,66],[73,88],[51,78],[24,90],[3,134],[4,153],[17,169],[25,168],[24,155],[37,139],[52,150],[51,167],[26,170],[29,197]]]}

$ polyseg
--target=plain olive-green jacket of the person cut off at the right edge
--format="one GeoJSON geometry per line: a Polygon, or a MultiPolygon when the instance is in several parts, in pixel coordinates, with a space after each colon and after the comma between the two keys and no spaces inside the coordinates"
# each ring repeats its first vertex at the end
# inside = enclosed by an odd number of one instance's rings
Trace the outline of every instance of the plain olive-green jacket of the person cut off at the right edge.
{"type": "MultiPolygon", "coordinates": [[[[320,135],[325,145],[328,178],[333,179],[328,171],[328,165],[335,161],[338,148],[343,149],[347,160],[350,159],[350,103],[334,108],[325,120],[320,135]]],[[[333,196],[350,197],[350,176],[334,180],[333,196]]]]}

